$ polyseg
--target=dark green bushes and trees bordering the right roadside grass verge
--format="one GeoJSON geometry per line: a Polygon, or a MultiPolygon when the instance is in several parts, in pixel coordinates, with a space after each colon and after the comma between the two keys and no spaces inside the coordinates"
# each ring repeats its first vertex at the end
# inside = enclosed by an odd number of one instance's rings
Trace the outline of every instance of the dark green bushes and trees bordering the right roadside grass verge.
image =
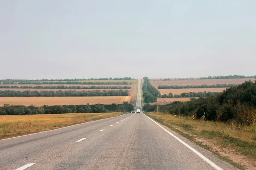
{"type": "MultiPolygon", "coordinates": [[[[156,106],[144,105],[143,110],[155,111],[156,106]]],[[[241,125],[256,125],[256,82],[246,81],[228,88],[217,96],[192,98],[188,102],[172,102],[159,106],[159,111],[195,116],[211,121],[234,120],[241,125]]]]}

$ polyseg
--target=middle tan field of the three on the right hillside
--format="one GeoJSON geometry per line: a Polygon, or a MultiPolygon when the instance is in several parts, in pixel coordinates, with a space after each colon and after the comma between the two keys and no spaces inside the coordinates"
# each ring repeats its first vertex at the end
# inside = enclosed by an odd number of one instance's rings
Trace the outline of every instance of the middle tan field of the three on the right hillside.
{"type": "Polygon", "coordinates": [[[226,90],[226,88],[178,88],[178,89],[158,89],[163,94],[181,94],[186,92],[204,92],[204,91],[210,91],[210,92],[222,92],[223,90],[226,90]]]}

